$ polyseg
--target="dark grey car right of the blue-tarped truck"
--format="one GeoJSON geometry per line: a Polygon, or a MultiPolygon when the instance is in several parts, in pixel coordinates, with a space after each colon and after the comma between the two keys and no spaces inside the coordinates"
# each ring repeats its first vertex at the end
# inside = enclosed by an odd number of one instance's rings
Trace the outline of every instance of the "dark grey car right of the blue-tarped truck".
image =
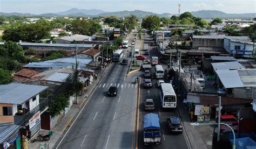
{"type": "Polygon", "coordinates": [[[166,119],[167,126],[170,132],[182,133],[183,127],[180,122],[180,118],[176,116],[171,116],[166,119]]]}

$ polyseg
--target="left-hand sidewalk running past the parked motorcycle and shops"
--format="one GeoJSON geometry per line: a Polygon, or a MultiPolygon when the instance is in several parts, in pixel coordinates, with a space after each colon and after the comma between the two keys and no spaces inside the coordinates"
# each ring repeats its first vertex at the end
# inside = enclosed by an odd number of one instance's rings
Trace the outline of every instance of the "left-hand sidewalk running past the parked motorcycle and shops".
{"type": "MultiPolygon", "coordinates": [[[[42,142],[37,141],[35,143],[31,143],[31,140],[33,140],[37,136],[37,134],[35,134],[35,136],[29,141],[29,148],[33,148],[33,149],[40,148],[40,145],[44,143],[48,144],[48,148],[53,148],[57,146],[57,141],[62,137],[65,130],[68,129],[68,127],[72,124],[73,119],[76,117],[78,111],[83,107],[84,103],[87,101],[87,97],[90,96],[92,91],[97,86],[98,82],[102,79],[107,68],[108,67],[102,68],[102,70],[100,70],[97,80],[93,80],[92,83],[89,84],[89,86],[87,86],[84,94],[82,94],[82,96],[78,96],[78,104],[73,104],[72,107],[70,108],[70,111],[66,113],[66,115],[64,115],[62,118],[60,118],[57,125],[55,125],[51,130],[52,136],[50,140],[42,141],[42,142]]],[[[39,133],[48,134],[49,131],[40,130],[39,133]]]]}

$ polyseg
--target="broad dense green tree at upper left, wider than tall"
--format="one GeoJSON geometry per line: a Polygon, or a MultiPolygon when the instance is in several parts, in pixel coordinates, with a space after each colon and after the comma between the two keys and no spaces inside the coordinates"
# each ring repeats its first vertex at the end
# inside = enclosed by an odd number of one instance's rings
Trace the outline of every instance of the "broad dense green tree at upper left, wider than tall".
{"type": "Polygon", "coordinates": [[[50,38],[51,27],[42,24],[21,24],[11,26],[4,30],[3,39],[5,41],[18,42],[19,40],[27,42],[38,42],[41,39],[50,38]]]}

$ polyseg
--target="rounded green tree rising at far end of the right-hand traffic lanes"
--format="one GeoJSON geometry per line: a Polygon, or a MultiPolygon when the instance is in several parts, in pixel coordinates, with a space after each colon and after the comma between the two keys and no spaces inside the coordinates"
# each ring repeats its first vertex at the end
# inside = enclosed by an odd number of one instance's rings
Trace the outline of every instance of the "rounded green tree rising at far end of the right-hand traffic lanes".
{"type": "Polygon", "coordinates": [[[146,18],[142,19],[142,27],[144,29],[153,31],[153,30],[156,30],[159,26],[160,26],[160,18],[156,15],[147,16],[146,18]]]}

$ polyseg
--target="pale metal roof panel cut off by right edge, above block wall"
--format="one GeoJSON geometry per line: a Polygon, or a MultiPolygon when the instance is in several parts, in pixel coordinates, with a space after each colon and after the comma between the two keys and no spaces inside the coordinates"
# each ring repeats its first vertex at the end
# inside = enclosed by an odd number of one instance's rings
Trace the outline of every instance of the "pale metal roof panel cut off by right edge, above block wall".
{"type": "Polygon", "coordinates": [[[244,87],[256,87],[256,69],[240,69],[238,74],[244,87]]]}

